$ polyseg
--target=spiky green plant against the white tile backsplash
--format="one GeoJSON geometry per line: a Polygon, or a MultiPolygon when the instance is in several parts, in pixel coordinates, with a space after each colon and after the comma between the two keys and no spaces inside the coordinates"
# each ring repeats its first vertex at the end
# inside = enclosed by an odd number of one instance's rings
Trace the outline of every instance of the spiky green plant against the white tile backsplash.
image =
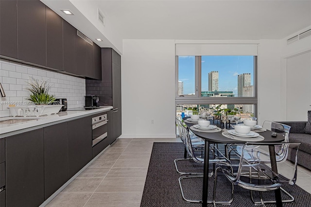
{"type": "Polygon", "coordinates": [[[30,95],[26,98],[27,100],[34,102],[34,104],[51,104],[55,101],[55,95],[49,94],[51,86],[46,81],[38,81],[34,77],[29,83],[30,87],[26,89],[30,91],[30,95]]]}

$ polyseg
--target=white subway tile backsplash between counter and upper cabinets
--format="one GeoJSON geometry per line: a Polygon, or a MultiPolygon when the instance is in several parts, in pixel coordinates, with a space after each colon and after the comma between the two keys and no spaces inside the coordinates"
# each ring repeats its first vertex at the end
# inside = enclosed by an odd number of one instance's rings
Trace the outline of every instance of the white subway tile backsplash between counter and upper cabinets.
{"type": "Polygon", "coordinates": [[[28,81],[30,77],[47,81],[50,93],[56,98],[67,98],[68,108],[84,106],[86,80],[67,74],[32,67],[13,61],[0,59],[0,81],[6,97],[0,97],[0,117],[10,116],[10,102],[28,102],[28,81]]]}

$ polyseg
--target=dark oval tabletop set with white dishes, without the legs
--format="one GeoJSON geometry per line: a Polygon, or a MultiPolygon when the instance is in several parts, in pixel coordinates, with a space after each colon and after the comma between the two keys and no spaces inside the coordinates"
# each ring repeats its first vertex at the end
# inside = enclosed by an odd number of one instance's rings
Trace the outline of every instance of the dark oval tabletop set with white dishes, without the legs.
{"type": "MultiPolygon", "coordinates": [[[[183,120],[186,120],[190,117],[185,117],[183,118],[183,120]]],[[[220,128],[224,128],[224,124],[221,124],[219,121],[215,120],[213,122],[213,120],[209,120],[210,124],[212,125],[216,125],[220,128]]],[[[184,122],[187,127],[190,129],[190,126],[193,126],[196,123],[188,123],[188,122],[184,122]]],[[[235,125],[235,123],[233,123],[235,125]]],[[[229,127],[227,125],[227,129],[233,129],[231,127],[229,127]]],[[[230,138],[226,138],[225,136],[222,135],[222,131],[220,132],[198,132],[198,131],[191,131],[193,132],[193,134],[195,134],[197,137],[199,138],[203,138],[203,139],[207,139],[209,140],[211,143],[245,143],[245,142],[253,142],[252,138],[245,138],[245,141],[239,141],[239,140],[234,140],[234,139],[230,139],[230,138]]],[[[257,132],[259,135],[261,135],[262,137],[264,137],[264,139],[262,141],[255,141],[255,142],[281,142],[284,141],[284,136],[277,134],[276,137],[272,137],[271,136],[271,131],[267,130],[265,132],[257,132]]]]}

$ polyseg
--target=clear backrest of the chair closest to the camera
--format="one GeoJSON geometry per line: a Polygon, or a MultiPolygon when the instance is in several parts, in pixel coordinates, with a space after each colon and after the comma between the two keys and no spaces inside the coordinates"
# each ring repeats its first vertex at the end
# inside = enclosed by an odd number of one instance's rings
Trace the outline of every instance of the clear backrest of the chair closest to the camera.
{"type": "MultiPolygon", "coordinates": [[[[297,179],[297,153],[300,143],[245,143],[242,149],[241,159],[239,163],[239,169],[236,176],[236,183],[240,181],[240,177],[245,175],[245,172],[248,172],[248,175],[251,175],[254,179],[264,179],[273,181],[271,185],[267,186],[271,188],[277,187],[280,183],[289,183],[294,185],[297,179]],[[250,150],[250,146],[259,145],[258,148],[250,150]],[[294,148],[296,151],[290,151],[290,156],[294,158],[294,163],[284,163],[271,161],[271,155],[273,155],[273,150],[276,151],[282,145],[284,148],[294,148]],[[267,154],[266,151],[261,151],[261,146],[269,146],[270,153],[267,154]],[[270,155],[271,154],[271,155],[270,155]],[[276,166],[277,172],[274,172],[271,168],[272,164],[276,166]],[[255,172],[255,174],[251,173],[255,172]],[[242,175],[243,174],[243,175],[242,175]]],[[[287,150],[288,151],[288,150],[287,150]]],[[[277,154],[275,153],[277,156],[277,154]]],[[[275,169],[274,169],[275,170],[275,169]]],[[[267,183],[262,183],[267,185],[267,183]]],[[[253,184],[254,185],[254,184],[253,184]]],[[[260,184],[258,184],[260,185],[260,184]]]]}

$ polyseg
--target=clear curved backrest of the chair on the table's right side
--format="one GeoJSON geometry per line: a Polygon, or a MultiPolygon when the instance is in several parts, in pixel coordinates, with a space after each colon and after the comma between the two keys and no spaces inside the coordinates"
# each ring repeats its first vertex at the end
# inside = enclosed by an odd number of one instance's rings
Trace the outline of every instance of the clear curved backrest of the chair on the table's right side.
{"type": "MultiPolygon", "coordinates": [[[[264,121],[262,127],[284,136],[284,142],[289,142],[291,126],[274,121],[264,121]]],[[[279,148],[276,149],[277,161],[285,161],[287,159],[287,153],[288,148],[284,147],[284,145],[280,145],[279,148]]]]}

